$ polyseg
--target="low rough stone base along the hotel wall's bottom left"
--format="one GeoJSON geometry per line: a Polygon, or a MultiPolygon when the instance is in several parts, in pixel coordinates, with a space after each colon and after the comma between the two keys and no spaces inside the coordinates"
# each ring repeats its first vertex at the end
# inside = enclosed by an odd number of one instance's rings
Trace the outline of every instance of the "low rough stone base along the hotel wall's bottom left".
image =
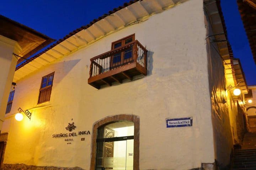
{"type": "Polygon", "coordinates": [[[25,164],[4,164],[1,170],[84,170],[80,167],[33,166],[25,164]]]}

